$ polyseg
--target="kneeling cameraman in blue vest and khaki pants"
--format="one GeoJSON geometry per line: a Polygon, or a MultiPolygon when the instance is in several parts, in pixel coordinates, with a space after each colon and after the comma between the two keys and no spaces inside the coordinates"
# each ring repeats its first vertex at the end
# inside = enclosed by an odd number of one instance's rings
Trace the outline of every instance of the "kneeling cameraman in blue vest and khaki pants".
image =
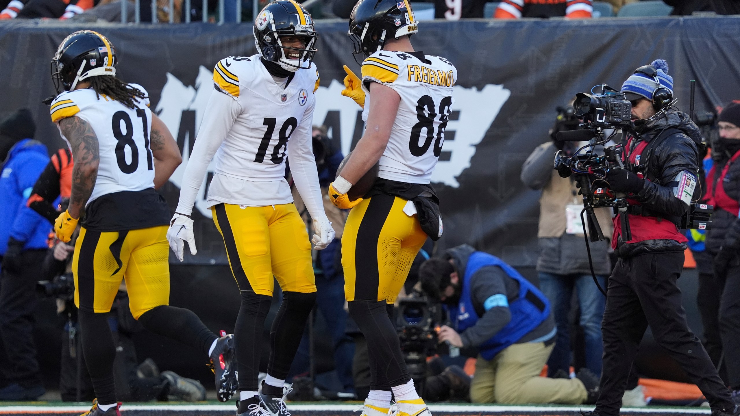
{"type": "Polygon", "coordinates": [[[588,369],[576,378],[539,377],[555,342],[550,302],[499,258],[463,244],[430,258],[419,270],[423,291],[445,303],[454,328],[440,342],[475,347],[471,382],[475,403],[593,403],[598,379],[588,369]]]}

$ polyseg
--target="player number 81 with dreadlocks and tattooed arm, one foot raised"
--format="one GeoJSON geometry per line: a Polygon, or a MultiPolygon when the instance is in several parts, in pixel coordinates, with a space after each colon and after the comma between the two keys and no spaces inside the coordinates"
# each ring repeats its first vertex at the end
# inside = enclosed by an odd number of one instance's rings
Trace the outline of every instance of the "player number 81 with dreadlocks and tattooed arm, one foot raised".
{"type": "Polygon", "coordinates": [[[67,36],[52,60],[59,94],[51,118],[75,160],[69,208],[54,229],[66,243],[81,225],[72,265],[75,305],[97,397],[84,415],[120,415],[107,312],[121,279],[131,313],[145,328],[209,355],[226,401],[236,382],[232,335],[219,338],[193,312],[168,305],[169,209],[155,188],[180,164],[178,145],[149,110],[144,87],[116,78],[117,63],[110,41],[92,30],[67,36]]]}

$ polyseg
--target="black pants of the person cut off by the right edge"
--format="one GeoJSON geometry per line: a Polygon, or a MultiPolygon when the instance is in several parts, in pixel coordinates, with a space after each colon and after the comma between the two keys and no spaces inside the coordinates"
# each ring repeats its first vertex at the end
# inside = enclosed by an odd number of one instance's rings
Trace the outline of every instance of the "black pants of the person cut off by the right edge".
{"type": "Polygon", "coordinates": [[[719,335],[727,368],[727,381],[733,389],[740,389],[740,266],[727,270],[724,281],[718,279],[721,289],[719,301],[719,335]]]}

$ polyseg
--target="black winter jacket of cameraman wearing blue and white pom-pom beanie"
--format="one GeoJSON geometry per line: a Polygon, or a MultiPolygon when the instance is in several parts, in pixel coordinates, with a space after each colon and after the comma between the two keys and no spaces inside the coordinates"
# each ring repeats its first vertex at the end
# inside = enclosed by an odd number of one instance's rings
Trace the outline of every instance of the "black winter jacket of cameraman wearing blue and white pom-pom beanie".
{"type": "MultiPolygon", "coordinates": [[[[688,211],[688,205],[673,196],[673,186],[670,182],[683,170],[697,175],[699,170],[698,146],[702,143],[702,134],[699,127],[696,127],[686,113],[668,111],[664,117],[651,121],[642,128],[639,132],[640,140],[649,142],[668,128],[679,129],[682,132],[668,136],[655,149],[650,161],[649,176],[655,178],[656,181],[645,181],[645,187],[633,198],[653,212],[670,217],[680,217],[688,211]]],[[[676,240],[661,239],[631,244],[618,241],[617,249],[619,257],[629,258],[648,252],[682,252],[686,248],[686,244],[676,240]]]]}

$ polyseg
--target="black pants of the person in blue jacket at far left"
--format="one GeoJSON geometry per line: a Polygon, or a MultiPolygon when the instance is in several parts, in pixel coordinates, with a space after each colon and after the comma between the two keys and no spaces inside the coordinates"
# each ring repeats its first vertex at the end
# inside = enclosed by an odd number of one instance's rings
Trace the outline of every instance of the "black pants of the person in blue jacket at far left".
{"type": "Polygon", "coordinates": [[[10,383],[26,388],[41,386],[33,342],[36,312],[36,281],[41,278],[47,250],[21,252],[21,272],[2,272],[0,284],[0,332],[10,361],[10,383]]]}

